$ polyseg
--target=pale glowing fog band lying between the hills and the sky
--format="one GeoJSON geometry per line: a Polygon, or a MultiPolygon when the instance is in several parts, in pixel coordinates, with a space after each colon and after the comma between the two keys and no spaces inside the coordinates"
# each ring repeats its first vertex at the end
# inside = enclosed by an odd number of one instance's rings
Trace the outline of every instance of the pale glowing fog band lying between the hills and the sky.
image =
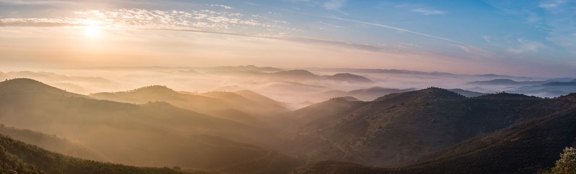
{"type": "MultiPolygon", "coordinates": [[[[564,91],[526,90],[524,84],[478,85],[469,82],[510,79],[548,80],[545,78],[517,77],[506,75],[458,75],[438,72],[417,72],[405,70],[374,71],[374,69],[342,68],[273,68],[255,66],[224,67],[73,67],[73,68],[31,68],[10,69],[0,74],[2,79],[31,78],[77,94],[89,95],[98,92],[118,92],[135,88],[160,85],[175,91],[203,93],[210,91],[251,90],[272,99],[287,103],[322,102],[329,99],[318,95],[325,91],[352,91],[370,87],[382,88],[426,88],[430,86],[446,89],[460,88],[475,92],[510,91],[526,95],[554,97],[568,94],[564,91]],[[276,75],[274,72],[307,69],[316,78],[291,72],[276,75]],[[370,83],[350,82],[346,79],[334,80],[322,77],[339,73],[351,73],[372,80],[370,83]],[[524,87],[524,90],[521,89],[524,87]]],[[[386,70],[386,69],[384,69],[386,70]]],[[[569,78],[567,78],[569,79],[569,78]]],[[[551,81],[552,82],[552,81],[551,81]]],[[[542,83],[544,84],[544,83],[542,83]]],[[[374,93],[372,100],[384,93],[374,93]]],[[[334,96],[336,97],[336,96],[334,96]]]]}

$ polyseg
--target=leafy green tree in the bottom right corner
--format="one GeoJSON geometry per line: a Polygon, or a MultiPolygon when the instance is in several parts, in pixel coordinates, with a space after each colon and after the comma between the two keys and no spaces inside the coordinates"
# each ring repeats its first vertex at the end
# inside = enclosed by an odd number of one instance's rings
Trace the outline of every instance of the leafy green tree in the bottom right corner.
{"type": "Polygon", "coordinates": [[[552,171],[543,173],[549,174],[572,174],[576,173],[576,149],[564,148],[564,152],[560,154],[560,160],[556,161],[556,166],[552,171]]]}

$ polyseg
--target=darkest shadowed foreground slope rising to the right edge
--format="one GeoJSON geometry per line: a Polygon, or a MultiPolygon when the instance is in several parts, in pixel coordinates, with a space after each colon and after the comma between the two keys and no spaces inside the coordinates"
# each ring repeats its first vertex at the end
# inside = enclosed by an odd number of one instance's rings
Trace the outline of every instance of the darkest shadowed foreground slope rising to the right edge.
{"type": "Polygon", "coordinates": [[[573,109],[471,138],[407,167],[386,169],[324,161],[295,173],[536,173],[554,166],[558,154],[564,147],[574,146],[575,138],[573,109]]]}

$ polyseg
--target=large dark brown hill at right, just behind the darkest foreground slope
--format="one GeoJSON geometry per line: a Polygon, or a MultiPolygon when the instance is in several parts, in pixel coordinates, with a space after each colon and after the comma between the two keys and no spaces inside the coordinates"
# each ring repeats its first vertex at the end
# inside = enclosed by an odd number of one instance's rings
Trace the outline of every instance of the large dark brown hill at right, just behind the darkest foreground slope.
{"type": "MultiPolygon", "coordinates": [[[[315,110],[338,112],[309,121],[283,150],[312,160],[399,167],[468,138],[576,108],[569,100],[508,93],[465,98],[441,88],[325,107],[315,110]]],[[[314,110],[298,113],[307,114],[315,115],[314,110]]]]}

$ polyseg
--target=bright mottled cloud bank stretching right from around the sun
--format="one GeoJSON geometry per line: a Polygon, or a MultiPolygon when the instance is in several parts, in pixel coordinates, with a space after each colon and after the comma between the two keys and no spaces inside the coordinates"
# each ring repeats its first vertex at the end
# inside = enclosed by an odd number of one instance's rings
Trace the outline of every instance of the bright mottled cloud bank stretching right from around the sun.
{"type": "Polygon", "coordinates": [[[196,29],[219,32],[289,32],[286,21],[212,10],[112,9],[76,11],[75,18],[0,18],[0,26],[58,27],[101,25],[124,29],[196,29]]]}

